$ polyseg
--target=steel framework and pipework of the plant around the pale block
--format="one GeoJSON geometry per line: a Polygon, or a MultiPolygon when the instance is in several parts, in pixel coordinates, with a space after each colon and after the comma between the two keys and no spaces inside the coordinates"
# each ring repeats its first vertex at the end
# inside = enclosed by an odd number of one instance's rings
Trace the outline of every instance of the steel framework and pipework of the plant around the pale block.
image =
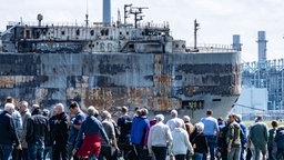
{"type": "Polygon", "coordinates": [[[284,59],[243,62],[242,87],[266,88],[267,110],[284,110],[284,59]]]}

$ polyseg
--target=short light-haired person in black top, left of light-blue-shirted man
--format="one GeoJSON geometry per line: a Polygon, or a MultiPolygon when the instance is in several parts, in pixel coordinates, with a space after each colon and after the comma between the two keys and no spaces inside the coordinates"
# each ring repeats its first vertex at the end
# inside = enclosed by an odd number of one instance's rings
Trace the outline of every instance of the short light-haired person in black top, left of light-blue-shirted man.
{"type": "Polygon", "coordinates": [[[209,144],[206,136],[203,133],[204,124],[202,122],[195,123],[195,129],[197,130],[197,134],[192,140],[192,148],[194,150],[194,160],[202,160],[203,153],[209,153],[209,144]]]}

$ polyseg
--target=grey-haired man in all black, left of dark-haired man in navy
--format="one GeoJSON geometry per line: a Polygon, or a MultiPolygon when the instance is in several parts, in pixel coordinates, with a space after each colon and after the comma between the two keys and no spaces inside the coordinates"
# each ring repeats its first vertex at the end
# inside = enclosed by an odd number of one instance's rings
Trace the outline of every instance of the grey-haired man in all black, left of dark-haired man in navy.
{"type": "Polygon", "coordinates": [[[64,112],[64,106],[57,103],[53,108],[55,114],[51,124],[52,158],[54,160],[68,160],[68,122],[69,117],[64,112]]]}

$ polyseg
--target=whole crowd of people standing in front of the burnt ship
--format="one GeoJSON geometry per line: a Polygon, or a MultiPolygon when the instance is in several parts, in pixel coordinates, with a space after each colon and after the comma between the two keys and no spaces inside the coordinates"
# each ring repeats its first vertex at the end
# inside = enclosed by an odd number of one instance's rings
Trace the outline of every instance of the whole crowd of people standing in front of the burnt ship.
{"type": "Polygon", "coordinates": [[[48,109],[27,101],[16,104],[8,97],[0,112],[1,160],[281,160],[284,156],[284,127],[272,121],[272,129],[258,116],[248,128],[242,116],[214,118],[213,111],[191,123],[171,111],[149,119],[148,109],[128,107],[113,120],[104,110],[90,106],[82,111],[72,101],[48,109]]]}

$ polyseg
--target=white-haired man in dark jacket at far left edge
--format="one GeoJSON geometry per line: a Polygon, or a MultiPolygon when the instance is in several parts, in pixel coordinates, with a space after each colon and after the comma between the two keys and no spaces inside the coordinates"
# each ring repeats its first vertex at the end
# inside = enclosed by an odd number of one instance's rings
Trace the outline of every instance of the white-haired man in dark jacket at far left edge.
{"type": "Polygon", "coordinates": [[[21,150],[21,143],[16,131],[16,127],[12,119],[12,113],[14,111],[13,103],[6,103],[4,111],[0,113],[0,159],[8,160],[11,157],[13,150],[13,142],[18,150],[21,150]]]}

